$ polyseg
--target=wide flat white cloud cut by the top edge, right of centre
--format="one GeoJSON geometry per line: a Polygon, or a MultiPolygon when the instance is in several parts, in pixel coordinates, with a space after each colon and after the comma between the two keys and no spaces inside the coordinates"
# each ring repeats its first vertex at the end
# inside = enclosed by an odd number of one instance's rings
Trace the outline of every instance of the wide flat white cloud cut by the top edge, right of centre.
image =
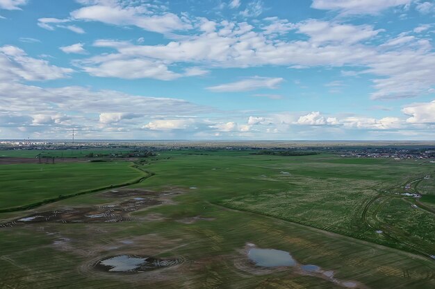
{"type": "Polygon", "coordinates": [[[413,0],[313,0],[312,8],[336,10],[344,15],[378,14],[387,8],[407,6],[413,0]]]}

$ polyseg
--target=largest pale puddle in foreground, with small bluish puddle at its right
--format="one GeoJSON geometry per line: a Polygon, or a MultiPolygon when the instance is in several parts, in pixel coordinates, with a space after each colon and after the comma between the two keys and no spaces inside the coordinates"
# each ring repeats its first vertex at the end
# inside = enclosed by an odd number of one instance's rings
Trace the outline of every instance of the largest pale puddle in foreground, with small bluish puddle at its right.
{"type": "Polygon", "coordinates": [[[295,266],[296,261],[286,252],[277,249],[249,249],[249,260],[261,267],[295,266]]]}

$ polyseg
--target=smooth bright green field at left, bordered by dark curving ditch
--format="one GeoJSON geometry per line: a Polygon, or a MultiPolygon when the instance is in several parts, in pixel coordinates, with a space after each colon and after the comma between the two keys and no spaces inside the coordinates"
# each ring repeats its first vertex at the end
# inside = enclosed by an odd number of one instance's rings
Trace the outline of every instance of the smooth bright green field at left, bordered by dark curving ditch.
{"type": "Polygon", "coordinates": [[[0,209],[22,207],[142,176],[126,161],[0,166],[0,209]]]}

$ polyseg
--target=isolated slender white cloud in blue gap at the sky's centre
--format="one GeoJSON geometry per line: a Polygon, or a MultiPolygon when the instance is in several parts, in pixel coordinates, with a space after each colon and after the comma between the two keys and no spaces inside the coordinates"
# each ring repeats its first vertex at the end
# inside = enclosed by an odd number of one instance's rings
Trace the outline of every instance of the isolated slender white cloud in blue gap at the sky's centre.
{"type": "Polygon", "coordinates": [[[268,78],[255,76],[236,82],[226,83],[207,87],[210,91],[229,92],[229,91],[251,91],[256,89],[277,89],[278,85],[284,81],[284,78],[268,78]]]}

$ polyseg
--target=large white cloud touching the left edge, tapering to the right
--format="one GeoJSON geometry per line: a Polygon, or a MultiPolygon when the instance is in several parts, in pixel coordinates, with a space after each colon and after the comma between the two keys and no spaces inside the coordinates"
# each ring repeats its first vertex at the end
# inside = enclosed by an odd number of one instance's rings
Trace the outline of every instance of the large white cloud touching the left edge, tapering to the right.
{"type": "Polygon", "coordinates": [[[0,80],[52,80],[66,78],[73,70],[56,67],[47,60],[29,57],[16,46],[0,46],[0,80]]]}

